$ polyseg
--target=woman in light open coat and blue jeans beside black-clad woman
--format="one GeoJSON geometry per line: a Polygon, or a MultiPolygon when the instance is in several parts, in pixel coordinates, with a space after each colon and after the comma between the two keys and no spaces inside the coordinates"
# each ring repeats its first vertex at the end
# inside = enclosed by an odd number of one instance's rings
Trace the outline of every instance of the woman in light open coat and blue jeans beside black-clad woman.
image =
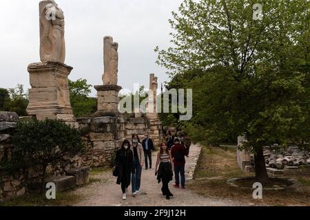
{"type": "Polygon", "coordinates": [[[130,148],[134,153],[134,173],[132,173],[132,195],[136,196],[141,187],[141,173],[144,163],[143,146],[139,143],[138,135],[132,135],[132,146],[130,148]]]}

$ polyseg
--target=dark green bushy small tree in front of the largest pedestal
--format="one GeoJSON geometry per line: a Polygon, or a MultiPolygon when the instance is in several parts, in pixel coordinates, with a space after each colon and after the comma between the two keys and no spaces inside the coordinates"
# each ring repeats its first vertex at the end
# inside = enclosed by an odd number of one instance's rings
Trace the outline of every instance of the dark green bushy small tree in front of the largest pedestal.
{"type": "Polygon", "coordinates": [[[41,167],[41,192],[45,187],[46,167],[59,162],[64,155],[83,152],[79,131],[54,120],[18,122],[12,137],[14,148],[11,162],[13,170],[41,167]]]}

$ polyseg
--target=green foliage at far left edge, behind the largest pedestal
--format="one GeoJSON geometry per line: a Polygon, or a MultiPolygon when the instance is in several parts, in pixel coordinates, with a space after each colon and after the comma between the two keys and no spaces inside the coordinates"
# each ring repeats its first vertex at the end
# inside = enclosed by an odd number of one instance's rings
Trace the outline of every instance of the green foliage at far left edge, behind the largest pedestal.
{"type": "Polygon", "coordinates": [[[28,115],[26,109],[28,107],[28,94],[24,91],[23,85],[18,84],[16,88],[8,89],[9,97],[6,96],[6,89],[3,90],[3,106],[1,107],[0,95],[0,109],[3,111],[14,111],[19,116],[28,115]]]}

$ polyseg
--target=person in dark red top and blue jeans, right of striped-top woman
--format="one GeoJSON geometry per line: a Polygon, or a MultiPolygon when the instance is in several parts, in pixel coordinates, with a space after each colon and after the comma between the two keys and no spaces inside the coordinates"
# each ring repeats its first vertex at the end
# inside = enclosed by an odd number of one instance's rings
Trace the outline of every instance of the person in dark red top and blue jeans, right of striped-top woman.
{"type": "Polygon", "coordinates": [[[174,177],[176,183],[174,187],[185,189],[185,156],[188,155],[188,150],[185,146],[180,144],[180,140],[174,140],[174,146],[171,148],[171,155],[174,162],[174,177]]]}

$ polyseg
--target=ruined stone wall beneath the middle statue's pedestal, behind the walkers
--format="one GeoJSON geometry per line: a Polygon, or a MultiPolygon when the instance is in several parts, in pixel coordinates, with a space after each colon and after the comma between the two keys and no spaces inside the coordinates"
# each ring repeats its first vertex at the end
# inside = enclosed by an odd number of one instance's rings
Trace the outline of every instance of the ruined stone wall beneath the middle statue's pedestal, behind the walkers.
{"type": "Polygon", "coordinates": [[[86,146],[83,153],[83,165],[92,167],[110,167],[115,152],[121,148],[123,140],[132,140],[137,134],[143,140],[149,131],[147,118],[78,118],[79,129],[86,146]]]}

